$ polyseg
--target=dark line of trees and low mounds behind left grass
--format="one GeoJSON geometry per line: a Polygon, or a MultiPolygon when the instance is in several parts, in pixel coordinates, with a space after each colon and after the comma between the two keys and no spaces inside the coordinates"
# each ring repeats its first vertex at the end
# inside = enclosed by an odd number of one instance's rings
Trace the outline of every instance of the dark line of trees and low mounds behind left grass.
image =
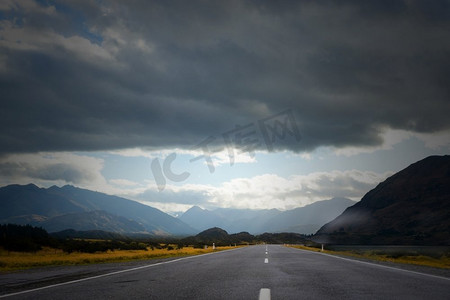
{"type": "Polygon", "coordinates": [[[76,232],[67,230],[49,234],[41,227],[31,225],[0,225],[0,247],[7,251],[36,252],[43,247],[61,249],[64,252],[106,252],[114,250],[182,249],[185,246],[203,248],[205,245],[228,246],[256,244],[306,243],[308,236],[298,233],[264,233],[251,235],[248,232],[228,234],[220,228],[210,228],[196,236],[186,238],[144,237],[131,238],[109,232],[76,232]]]}

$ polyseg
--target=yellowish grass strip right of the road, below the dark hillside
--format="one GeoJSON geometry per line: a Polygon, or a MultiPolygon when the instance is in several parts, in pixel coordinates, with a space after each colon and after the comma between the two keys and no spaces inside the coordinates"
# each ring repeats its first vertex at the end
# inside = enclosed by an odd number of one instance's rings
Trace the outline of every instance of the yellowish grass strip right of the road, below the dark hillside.
{"type": "MultiPolygon", "coordinates": [[[[298,246],[298,245],[288,245],[292,248],[298,248],[303,250],[321,252],[320,249],[314,247],[306,247],[306,246],[298,246]]],[[[415,254],[411,253],[401,253],[396,252],[395,255],[392,253],[383,253],[382,251],[331,251],[324,250],[323,253],[334,254],[334,255],[345,255],[357,258],[366,258],[371,260],[378,261],[388,261],[402,264],[413,264],[413,265],[421,265],[421,266],[429,266],[435,268],[443,268],[450,269],[450,256],[442,255],[440,257],[433,257],[423,254],[415,254]]]]}

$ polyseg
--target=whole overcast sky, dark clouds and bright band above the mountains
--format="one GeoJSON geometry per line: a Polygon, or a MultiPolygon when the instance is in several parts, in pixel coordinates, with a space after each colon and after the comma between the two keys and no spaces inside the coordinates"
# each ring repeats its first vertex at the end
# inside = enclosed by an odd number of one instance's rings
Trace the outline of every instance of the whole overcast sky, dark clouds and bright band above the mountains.
{"type": "Polygon", "coordinates": [[[450,152],[449,1],[0,2],[0,185],[359,200],[450,152]]]}

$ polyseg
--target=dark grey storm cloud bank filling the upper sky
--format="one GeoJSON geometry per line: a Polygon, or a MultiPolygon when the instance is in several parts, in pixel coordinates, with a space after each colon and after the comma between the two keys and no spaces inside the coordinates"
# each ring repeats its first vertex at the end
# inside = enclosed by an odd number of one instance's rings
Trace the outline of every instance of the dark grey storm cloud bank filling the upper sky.
{"type": "Polygon", "coordinates": [[[1,152],[191,147],[292,109],[300,143],[450,129],[449,1],[6,1],[1,152]]]}

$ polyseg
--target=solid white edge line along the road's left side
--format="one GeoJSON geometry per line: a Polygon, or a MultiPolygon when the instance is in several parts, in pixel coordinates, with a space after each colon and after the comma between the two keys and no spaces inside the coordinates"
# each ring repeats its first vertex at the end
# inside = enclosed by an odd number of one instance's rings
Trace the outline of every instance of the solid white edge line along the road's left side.
{"type": "Polygon", "coordinates": [[[61,282],[61,283],[57,283],[57,284],[47,285],[47,286],[43,286],[43,287],[31,289],[31,290],[25,290],[25,291],[16,292],[16,293],[0,295],[0,298],[6,298],[6,297],[22,295],[22,294],[31,293],[31,292],[37,292],[37,291],[41,291],[41,290],[46,290],[46,289],[58,287],[58,286],[74,284],[74,283],[88,281],[88,280],[92,280],[92,279],[112,276],[112,275],[126,273],[126,272],[132,272],[132,271],[136,271],[136,270],[140,270],[140,269],[146,269],[146,268],[156,267],[156,266],[165,265],[165,264],[171,264],[171,263],[179,262],[179,261],[182,261],[182,260],[193,259],[193,258],[197,258],[197,257],[201,257],[201,256],[206,256],[206,255],[211,255],[211,254],[218,254],[218,253],[224,253],[224,252],[229,252],[229,251],[234,251],[234,250],[239,250],[239,249],[245,249],[245,248],[236,248],[236,249],[222,250],[222,251],[218,251],[218,252],[211,252],[211,253],[205,253],[205,254],[199,254],[199,255],[193,255],[193,256],[177,258],[177,259],[174,259],[174,260],[163,261],[163,262],[150,264],[150,265],[144,265],[144,266],[140,266],[140,267],[136,267],[136,268],[125,269],[125,270],[120,270],[120,271],[116,271],[116,272],[101,274],[101,275],[97,275],[97,276],[86,277],[86,278],[81,278],[81,279],[77,279],[77,280],[72,280],[72,281],[67,281],[67,282],[61,282]]]}

